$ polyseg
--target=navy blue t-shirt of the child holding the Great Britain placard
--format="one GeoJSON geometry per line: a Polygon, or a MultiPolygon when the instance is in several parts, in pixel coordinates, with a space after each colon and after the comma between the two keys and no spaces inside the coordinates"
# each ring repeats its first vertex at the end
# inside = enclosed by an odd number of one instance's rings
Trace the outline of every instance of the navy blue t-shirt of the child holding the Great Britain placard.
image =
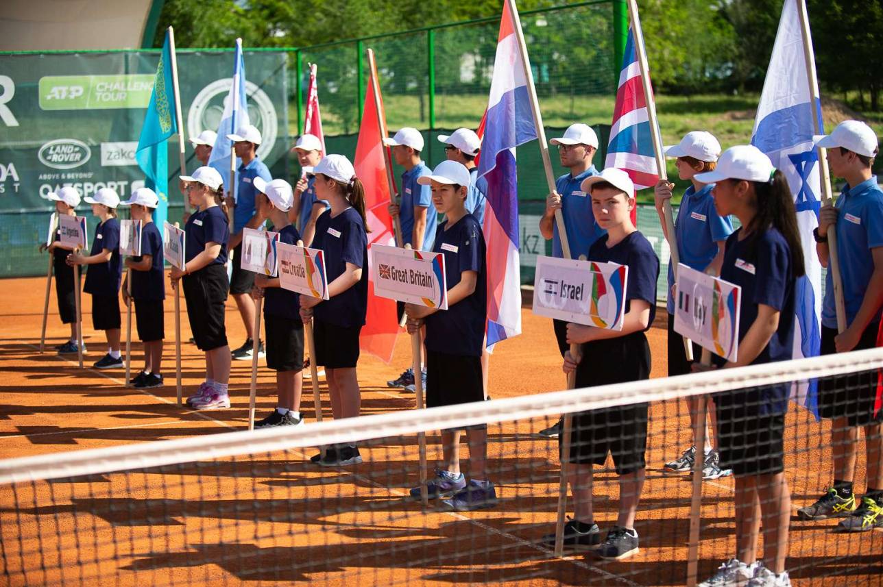
{"type": "Polygon", "coordinates": [[[444,253],[444,275],[450,291],[464,271],[479,274],[475,291],[447,310],[426,316],[426,349],[449,355],[481,357],[487,320],[487,260],[485,237],[472,214],[451,226],[448,221],[435,231],[433,252],[444,253]]]}

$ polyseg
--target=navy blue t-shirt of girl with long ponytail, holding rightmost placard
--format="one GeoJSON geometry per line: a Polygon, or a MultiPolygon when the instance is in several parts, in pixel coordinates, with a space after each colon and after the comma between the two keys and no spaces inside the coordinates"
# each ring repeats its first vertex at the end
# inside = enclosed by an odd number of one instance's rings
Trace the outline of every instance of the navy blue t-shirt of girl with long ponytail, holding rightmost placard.
{"type": "MultiPolygon", "coordinates": [[[[727,239],[721,279],[742,288],[739,305],[739,340],[748,333],[758,317],[758,304],[772,306],[779,311],[779,327],[764,350],[751,365],[787,361],[793,356],[795,292],[791,250],[779,230],[767,229],[755,240],[753,254],[749,251],[751,238],[739,240],[743,229],[727,239]]],[[[726,363],[713,356],[716,365],[726,363]]],[[[758,388],[759,413],[781,414],[788,409],[788,384],[758,388]]]]}

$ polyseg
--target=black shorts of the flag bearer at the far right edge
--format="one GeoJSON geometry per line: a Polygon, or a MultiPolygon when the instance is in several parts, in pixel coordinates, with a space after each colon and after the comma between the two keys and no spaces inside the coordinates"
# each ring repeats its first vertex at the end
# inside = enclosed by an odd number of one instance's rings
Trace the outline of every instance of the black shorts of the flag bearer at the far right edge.
{"type": "MultiPolygon", "coordinates": [[[[864,329],[855,350],[873,349],[877,346],[879,322],[872,322],[864,329]]],[[[822,327],[821,354],[833,355],[836,328],[822,327]]],[[[849,426],[865,426],[883,422],[883,410],[874,417],[877,398],[877,370],[846,373],[819,380],[819,416],[822,418],[846,418],[849,426]]]]}

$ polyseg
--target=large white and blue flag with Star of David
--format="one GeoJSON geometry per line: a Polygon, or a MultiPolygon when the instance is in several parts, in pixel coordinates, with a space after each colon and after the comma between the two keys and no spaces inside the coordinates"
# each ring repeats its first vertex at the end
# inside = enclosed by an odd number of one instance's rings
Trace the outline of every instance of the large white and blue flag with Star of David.
{"type": "MultiPolygon", "coordinates": [[[[819,154],[812,144],[812,136],[823,134],[823,129],[821,101],[818,95],[810,94],[811,73],[806,68],[798,10],[805,9],[802,5],[798,7],[794,0],[786,0],[782,8],[751,144],[766,153],[776,169],[788,178],[794,194],[806,267],[806,275],[795,284],[794,358],[803,358],[818,357],[821,344],[822,268],[812,238],[812,230],[819,226],[821,184],[819,154]],[[813,122],[813,109],[818,114],[818,126],[813,122]]],[[[796,383],[791,395],[818,416],[815,381],[796,383]]]]}

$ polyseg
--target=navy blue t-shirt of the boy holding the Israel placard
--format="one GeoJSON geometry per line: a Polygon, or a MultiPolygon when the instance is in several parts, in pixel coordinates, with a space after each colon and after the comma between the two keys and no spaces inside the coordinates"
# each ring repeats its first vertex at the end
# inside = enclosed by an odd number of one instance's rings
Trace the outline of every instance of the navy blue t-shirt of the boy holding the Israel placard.
{"type": "Polygon", "coordinates": [[[617,263],[629,267],[625,286],[625,312],[631,309],[631,300],[643,299],[650,304],[650,320],[645,331],[656,318],[656,281],[660,276],[660,260],[653,251],[653,245],[638,230],[608,248],[609,235],[598,237],[589,248],[590,261],[617,263]]]}

